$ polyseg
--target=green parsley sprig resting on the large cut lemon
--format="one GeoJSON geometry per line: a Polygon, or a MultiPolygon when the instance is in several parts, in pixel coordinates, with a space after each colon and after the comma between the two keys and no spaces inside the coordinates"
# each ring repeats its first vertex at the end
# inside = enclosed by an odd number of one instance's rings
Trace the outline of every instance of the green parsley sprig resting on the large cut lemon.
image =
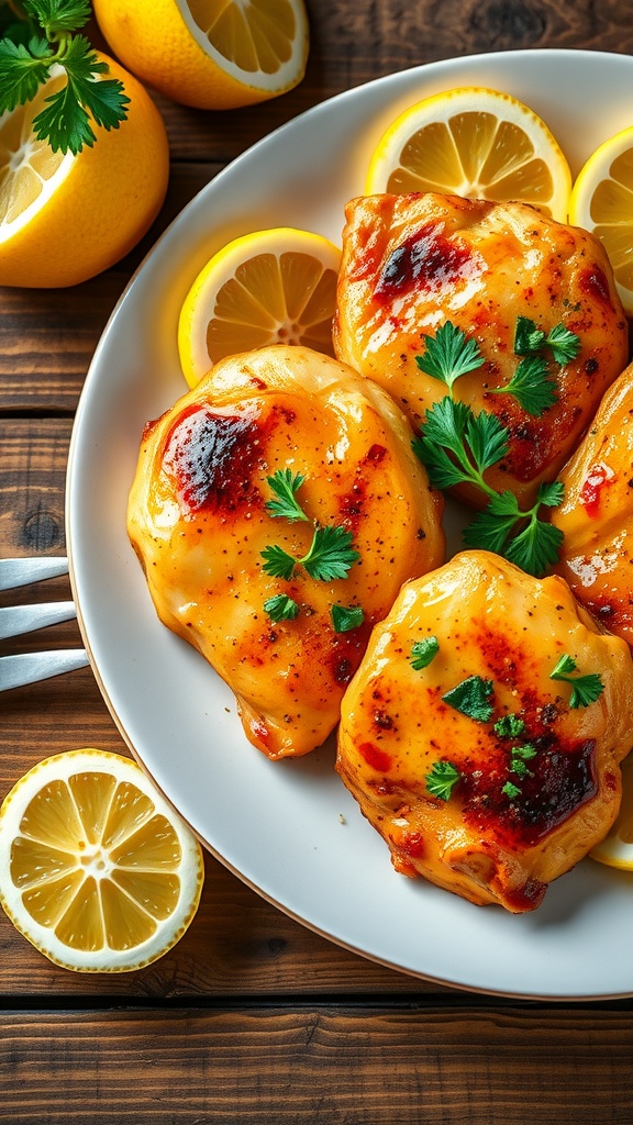
{"type": "Polygon", "coordinates": [[[30,101],[52,68],[63,68],[66,82],[46,98],[33,128],[54,152],[77,155],[95,144],[92,124],[118,128],[130,101],[118,79],[101,78],[108,65],[87,37],[74,34],[90,18],[89,0],[23,0],[14,10],[23,22],[0,39],[0,114],[30,101]]]}

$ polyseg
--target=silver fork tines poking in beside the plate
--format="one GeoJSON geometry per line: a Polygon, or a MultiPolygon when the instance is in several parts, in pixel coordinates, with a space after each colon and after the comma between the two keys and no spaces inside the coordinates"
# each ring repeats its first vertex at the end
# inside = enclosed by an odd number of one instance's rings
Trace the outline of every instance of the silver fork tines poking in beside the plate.
{"type": "MultiPolygon", "coordinates": [[[[68,574],[66,558],[0,559],[0,591],[17,590],[32,582],[68,574]]],[[[41,602],[34,605],[0,608],[0,640],[70,621],[77,616],[73,602],[41,602]]],[[[64,672],[84,668],[89,663],[83,648],[57,649],[48,652],[20,652],[0,656],[0,691],[48,680],[64,672]]]]}

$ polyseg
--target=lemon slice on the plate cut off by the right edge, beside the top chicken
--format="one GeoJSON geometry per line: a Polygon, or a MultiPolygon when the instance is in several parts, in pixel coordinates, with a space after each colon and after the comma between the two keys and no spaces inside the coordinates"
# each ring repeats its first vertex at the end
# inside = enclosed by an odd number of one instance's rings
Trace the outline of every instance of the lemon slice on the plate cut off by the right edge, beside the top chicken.
{"type": "Polygon", "coordinates": [[[573,184],[569,222],[603,243],[624,309],[633,316],[633,126],[589,156],[573,184]]]}

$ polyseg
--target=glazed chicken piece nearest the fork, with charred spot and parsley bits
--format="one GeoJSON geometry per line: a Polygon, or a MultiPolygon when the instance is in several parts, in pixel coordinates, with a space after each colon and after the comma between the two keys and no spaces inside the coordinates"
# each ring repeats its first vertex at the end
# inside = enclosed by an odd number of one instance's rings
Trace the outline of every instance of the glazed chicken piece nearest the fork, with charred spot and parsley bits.
{"type": "Polygon", "coordinates": [[[333,729],[373,626],[444,560],[440,520],[390,397],[279,344],[215,364],[145,426],[127,529],[159,618],[274,759],[333,729]]]}

